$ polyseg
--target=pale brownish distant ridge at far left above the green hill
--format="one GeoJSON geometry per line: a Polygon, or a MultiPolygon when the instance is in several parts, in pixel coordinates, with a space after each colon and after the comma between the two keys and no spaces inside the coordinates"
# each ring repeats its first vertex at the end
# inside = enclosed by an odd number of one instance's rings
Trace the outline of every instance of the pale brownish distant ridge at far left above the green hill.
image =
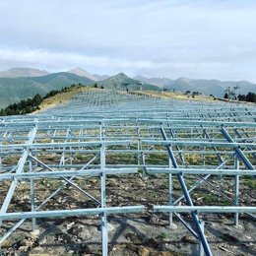
{"type": "Polygon", "coordinates": [[[0,72],[0,78],[22,78],[22,77],[39,77],[49,73],[45,70],[32,68],[11,68],[0,72]]]}

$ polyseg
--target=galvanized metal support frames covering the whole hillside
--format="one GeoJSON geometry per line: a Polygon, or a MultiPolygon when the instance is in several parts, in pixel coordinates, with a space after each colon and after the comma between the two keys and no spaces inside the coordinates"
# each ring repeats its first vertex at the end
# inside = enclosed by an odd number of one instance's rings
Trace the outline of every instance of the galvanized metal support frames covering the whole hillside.
{"type": "MultiPolygon", "coordinates": [[[[168,215],[169,224],[173,216],[184,224],[199,239],[200,254],[212,255],[203,222],[198,217],[200,213],[230,213],[235,224],[241,213],[255,218],[252,215],[255,207],[239,203],[239,192],[243,192],[239,191],[240,177],[256,176],[255,120],[253,105],[220,101],[184,104],[182,100],[162,99],[144,92],[126,94],[108,90],[80,93],[38,114],[0,117],[0,182],[11,184],[1,187],[4,192],[0,195],[0,223],[13,224],[5,234],[1,233],[0,245],[27,219],[32,220],[34,229],[38,218],[99,215],[102,255],[107,255],[107,216],[139,213],[145,207],[153,207],[157,213],[168,215]],[[123,154],[131,158],[121,159],[123,154]],[[111,162],[112,156],[121,160],[111,162]],[[198,160],[194,162],[191,158],[198,160]],[[166,173],[167,205],[153,206],[146,202],[146,206],[106,206],[107,177],[125,174],[130,178],[129,175],[138,175],[142,167],[145,180],[147,174],[166,173]],[[183,192],[179,198],[174,198],[173,175],[183,192]],[[193,184],[187,186],[185,177],[189,180],[190,175],[194,175],[193,184]],[[222,188],[215,187],[211,178],[216,176],[221,177],[220,182],[233,176],[234,182],[228,185],[234,191],[232,198],[222,188]],[[87,180],[91,178],[100,180],[100,199],[90,191],[87,180]],[[35,184],[39,179],[63,182],[37,203],[39,192],[35,184]],[[12,199],[17,198],[20,181],[30,185],[31,212],[12,213],[16,206],[12,199]],[[233,206],[194,206],[191,192],[202,184],[233,206]],[[64,188],[81,192],[85,202],[93,201],[96,208],[53,211],[48,203],[62,196],[64,188]],[[175,206],[181,200],[185,200],[186,207],[175,206]],[[46,210],[41,211],[42,207],[46,210]],[[182,213],[191,215],[193,227],[182,218],[182,213]]],[[[150,178],[154,177],[157,176],[150,178]]]]}

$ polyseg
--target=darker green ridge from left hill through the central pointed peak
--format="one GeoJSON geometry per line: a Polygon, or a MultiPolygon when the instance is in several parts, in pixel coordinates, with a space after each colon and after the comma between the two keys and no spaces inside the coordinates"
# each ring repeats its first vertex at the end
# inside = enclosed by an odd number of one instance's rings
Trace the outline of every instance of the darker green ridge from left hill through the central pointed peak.
{"type": "Polygon", "coordinates": [[[129,78],[123,73],[102,81],[94,81],[70,72],[59,72],[38,77],[0,78],[0,108],[36,94],[44,96],[51,90],[60,90],[79,83],[89,86],[94,86],[96,83],[98,87],[116,90],[126,90],[127,87],[129,90],[140,90],[141,87],[144,90],[160,90],[160,88],[147,83],[143,83],[142,86],[138,80],[129,78]]]}

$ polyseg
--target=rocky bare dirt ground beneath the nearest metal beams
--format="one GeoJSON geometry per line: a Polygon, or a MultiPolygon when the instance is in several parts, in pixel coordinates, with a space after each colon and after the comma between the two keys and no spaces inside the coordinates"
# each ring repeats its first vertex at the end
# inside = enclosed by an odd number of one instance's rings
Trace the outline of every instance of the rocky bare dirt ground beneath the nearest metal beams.
{"type": "MultiPolygon", "coordinates": [[[[181,195],[179,184],[174,181],[174,198],[181,195]]],[[[187,180],[191,185],[194,178],[187,180]]],[[[232,195],[231,179],[212,180],[229,197],[232,195]]],[[[76,183],[99,198],[99,179],[77,179],[76,183]]],[[[38,205],[61,181],[40,179],[35,184],[38,205]]],[[[7,184],[5,184],[7,185],[7,184]]],[[[1,184],[1,201],[6,190],[1,184]]],[[[254,179],[241,179],[240,202],[255,206],[254,179]]],[[[16,191],[10,211],[30,211],[30,184],[22,182],[16,191]]],[[[230,205],[212,187],[203,184],[192,193],[195,205],[230,205]]],[[[170,228],[167,216],[155,214],[153,205],[167,204],[167,177],[139,174],[109,176],[106,181],[107,206],[145,205],[141,214],[108,216],[109,255],[198,255],[198,242],[189,231],[174,218],[170,228]]],[[[181,204],[184,204],[182,201],[181,204]]],[[[75,209],[95,207],[93,201],[72,188],[66,187],[47,205],[47,209],[75,209]]],[[[45,208],[46,209],[46,208],[45,208]]],[[[45,210],[42,209],[42,210],[45,210]]],[[[183,218],[191,223],[188,214],[183,218]]],[[[241,215],[239,225],[233,224],[232,215],[201,215],[205,233],[214,255],[256,255],[256,223],[241,215]]],[[[4,233],[11,222],[1,226],[4,233]]],[[[2,255],[101,255],[100,217],[61,218],[37,220],[36,229],[28,221],[17,229],[3,244],[2,255]]]]}

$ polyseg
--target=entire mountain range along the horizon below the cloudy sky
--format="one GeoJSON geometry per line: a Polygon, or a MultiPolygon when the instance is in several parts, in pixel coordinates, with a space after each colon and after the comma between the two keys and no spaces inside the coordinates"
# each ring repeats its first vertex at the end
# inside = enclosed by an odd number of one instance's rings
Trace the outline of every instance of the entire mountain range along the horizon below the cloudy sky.
{"type": "Polygon", "coordinates": [[[0,72],[0,108],[21,99],[40,94],[46,95],[50,90],[60,90],[72,84],[95,85],[117,90],[169,90],[177,92],[199,92],[203,95],[223,97],[227,87],[238,86],[237,94],[256,93],[256,84],[247,81],[220,81],[179,78],[130,78],[124,73],[115,76],[96,75],[82,68],[67,72],[49,74],[47,71],[32,68],[11,68],[0,72]]]}

